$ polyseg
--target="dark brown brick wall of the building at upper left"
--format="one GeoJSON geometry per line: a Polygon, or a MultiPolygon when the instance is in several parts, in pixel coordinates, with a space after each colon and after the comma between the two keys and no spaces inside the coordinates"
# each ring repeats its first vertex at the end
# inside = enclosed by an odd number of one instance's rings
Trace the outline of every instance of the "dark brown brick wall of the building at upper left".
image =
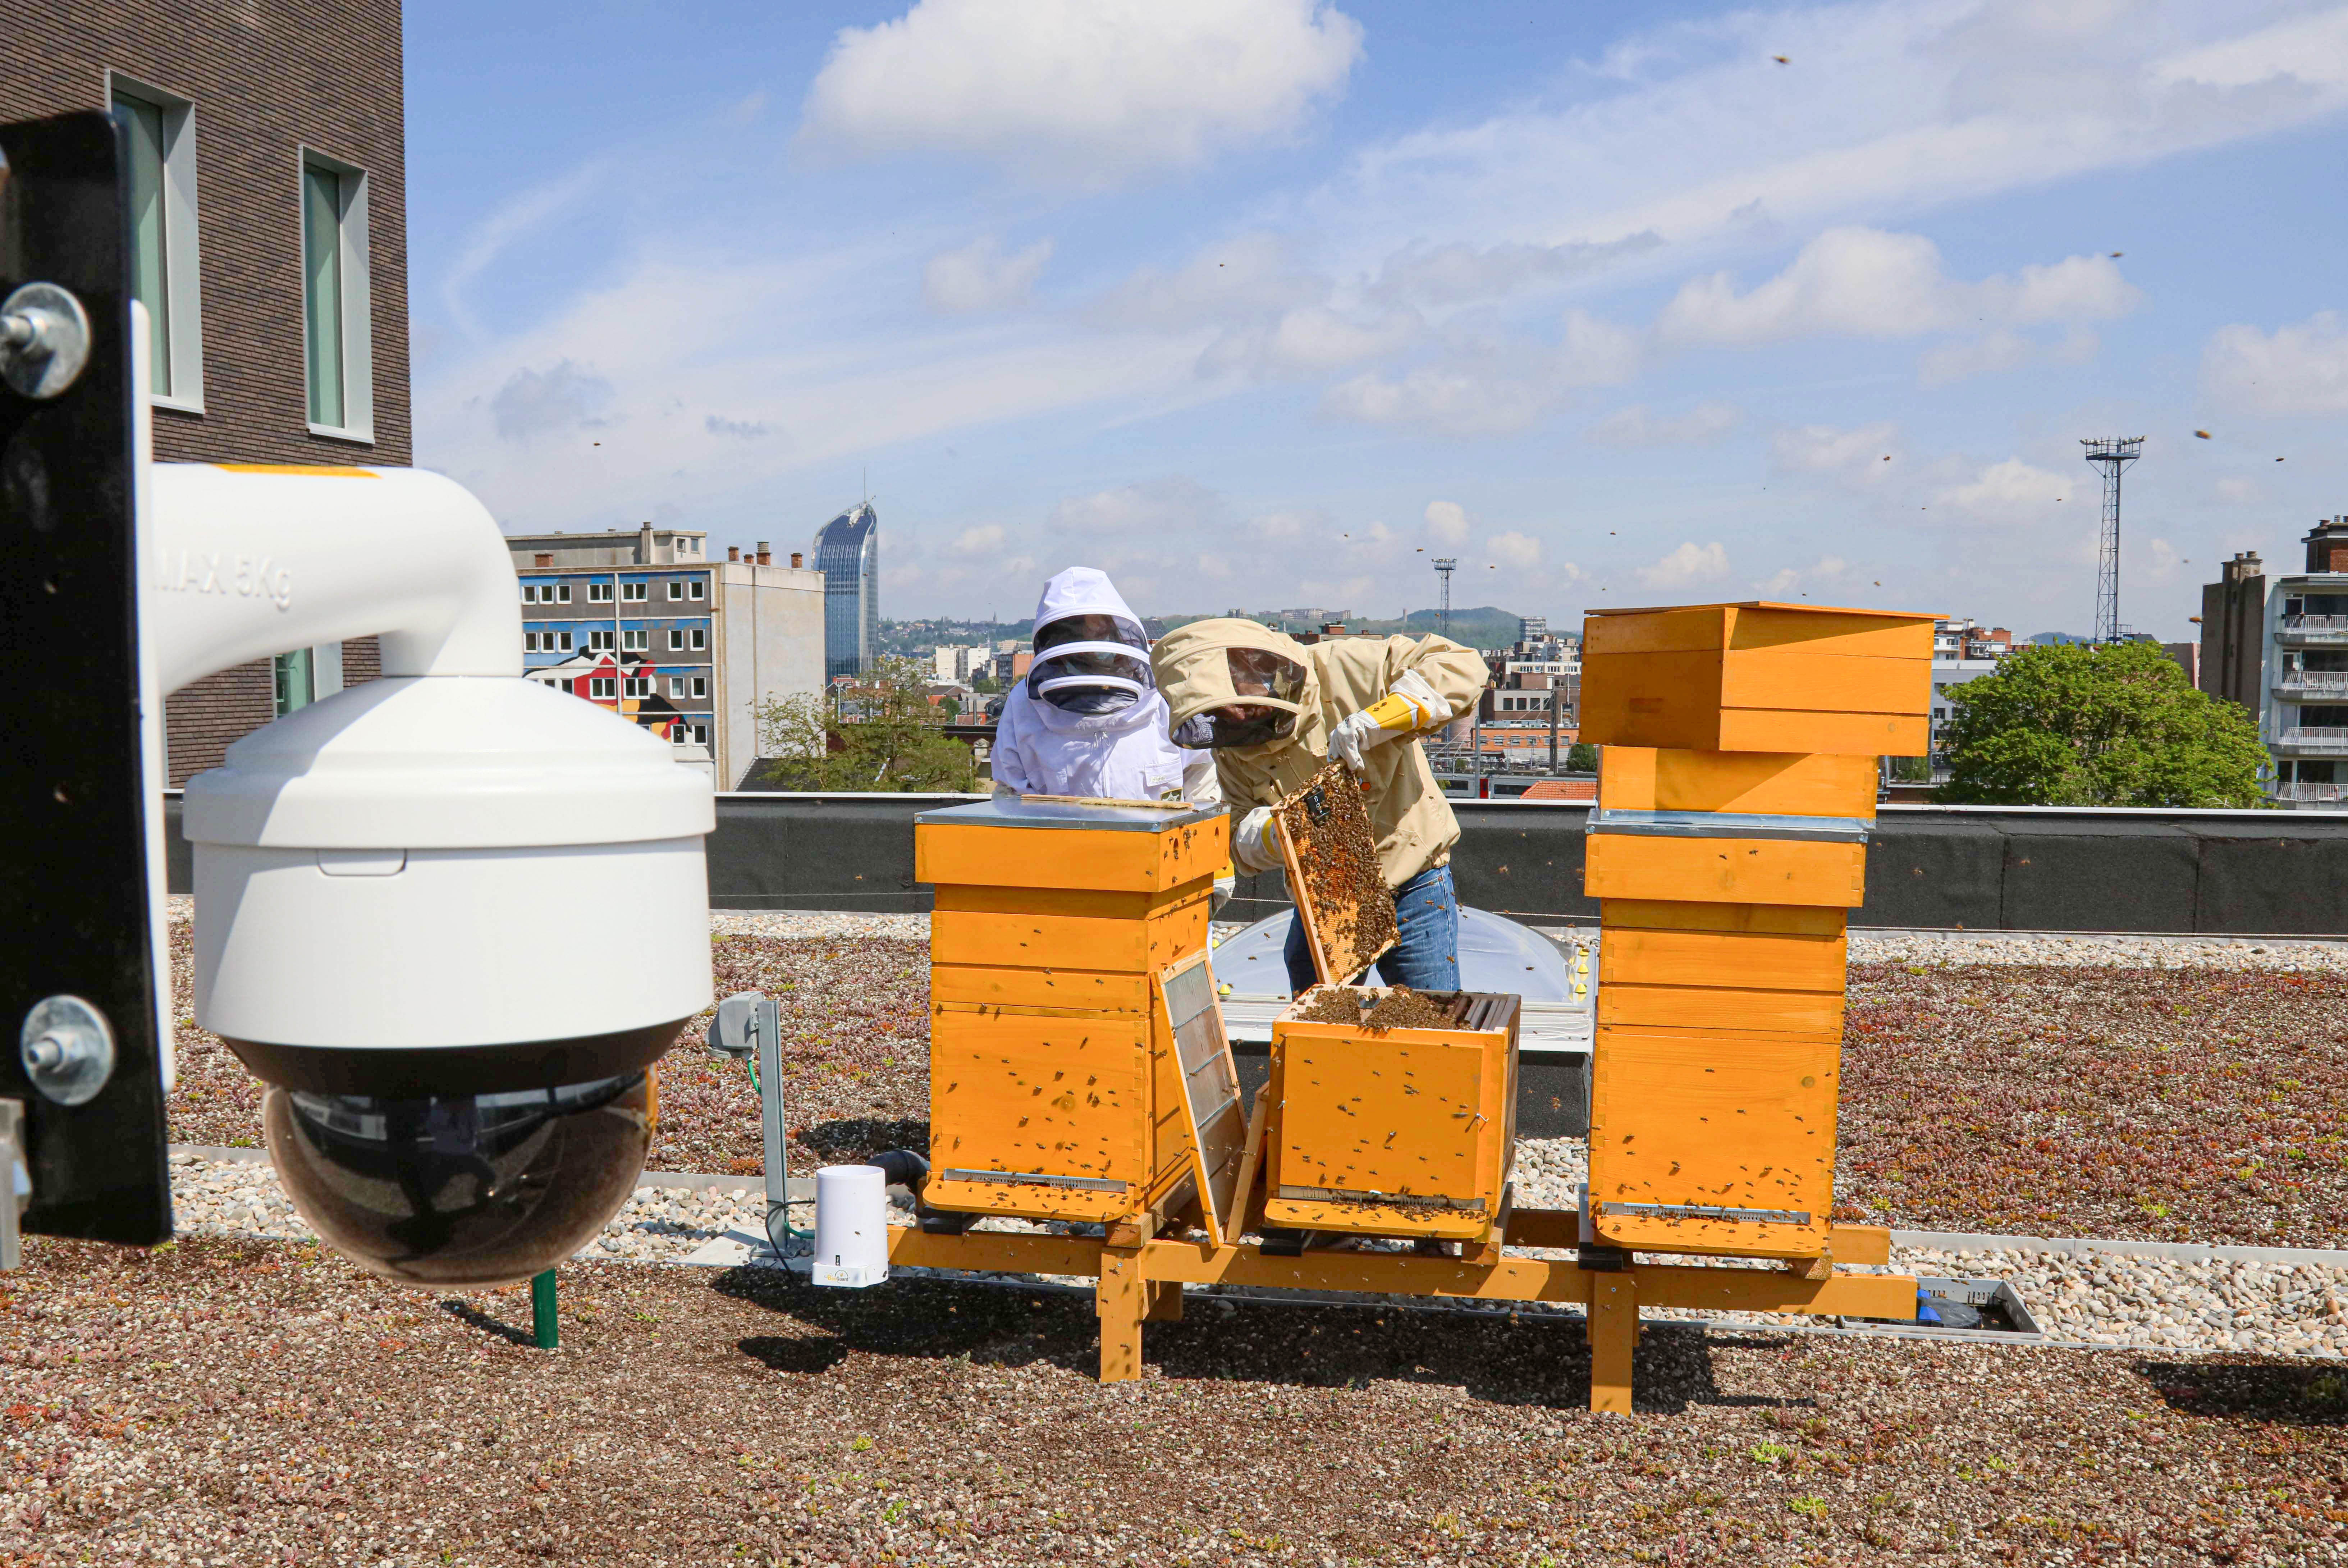
{"type": "MultiPolygon", "coordinates": [[[[411,462],[406,134],[397,0],[153,5],[73,0],[0,7],[0,120],[110,106],[115,73],[188,106],[202,347],[155,408],[167,462],[411,462]],[[303,153],[366,174],[371,441],[312,434],[303,373],[303,153]]],[[[174,251],[174,263],[181,256],[174,251]]],[[[171,291],[174,300],[185,298],[171,291]]],[[[331,664],[331,657],[319,657],[331,664]]],[[[369,678],[373,641],[343,678],[369,678]],[[369,671],[369,674],[362,674],[369,671]]],[[[216,768],[277,716],[263,660],[164,702],[169,782],[216,768]]],[[[319,695],[326,695],[319,690],[319,695]]]]}

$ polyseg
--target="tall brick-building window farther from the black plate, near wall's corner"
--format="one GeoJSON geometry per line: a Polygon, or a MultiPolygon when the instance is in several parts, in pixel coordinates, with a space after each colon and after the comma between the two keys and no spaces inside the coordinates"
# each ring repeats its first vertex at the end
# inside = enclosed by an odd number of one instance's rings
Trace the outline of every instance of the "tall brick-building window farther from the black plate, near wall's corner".
{"type": "Polygon", "coordinates": [[[366,171],[310,148],[301,153],[301,256],[310,432],[373,441],[366,171]]]}

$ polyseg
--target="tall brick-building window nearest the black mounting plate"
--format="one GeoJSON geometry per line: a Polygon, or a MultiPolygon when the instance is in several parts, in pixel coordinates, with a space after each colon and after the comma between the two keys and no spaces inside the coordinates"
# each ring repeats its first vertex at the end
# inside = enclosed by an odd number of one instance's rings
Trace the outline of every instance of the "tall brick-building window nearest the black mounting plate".
{"type": "Polygon", "coordinates": [[[195,221],[195,106],[113,75],[131,209],[131,298],[148,307],[148,387],[167,408],[204,411],[204,307],[195,221]]]}

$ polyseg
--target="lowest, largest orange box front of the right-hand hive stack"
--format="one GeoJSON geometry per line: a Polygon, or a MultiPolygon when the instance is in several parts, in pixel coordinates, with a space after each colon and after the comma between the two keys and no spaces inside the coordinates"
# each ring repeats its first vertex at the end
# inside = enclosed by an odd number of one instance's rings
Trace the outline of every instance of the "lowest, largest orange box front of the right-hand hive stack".
{"type": "Polygon", "coordinates": [[[1817,1256],[1834,1209],[1834,1045],[1599,1026],[1590,1075],[1590,1202],[1622,1246],[1817,1256]],[[1611,1204],[1806,1214],[1766,1223],[1632,1216],[1611,1204]]]}

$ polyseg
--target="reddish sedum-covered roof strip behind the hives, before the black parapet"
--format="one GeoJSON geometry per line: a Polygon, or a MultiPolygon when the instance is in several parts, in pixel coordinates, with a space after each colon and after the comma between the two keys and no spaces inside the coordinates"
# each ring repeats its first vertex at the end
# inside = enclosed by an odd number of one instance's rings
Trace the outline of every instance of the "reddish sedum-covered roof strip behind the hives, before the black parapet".
{"type": "MultiPolygon", "coordinates": [[[[718,922],[716,993],[765,991],[782,1002],[791,1169],[925,1148],[927,944],[742,925],[718,922]]],[[[871,925],[918,930],[904,918],[871,925]]],[[[258,1143],[261,1084],[185,1021],[188,925],[174,922],[171,937],[183,1016],[171,1141],[258,1143]]],[[[1984,946],[1942,951],[1972,958],[1984,946]]],[[[751,1174],[758,1101],[740,1063],[700,1047],[707,1026],[707,1014],[688,1023],[660,1066],[650,1167],[751,1174]]],[[[1843,1218],[2341,1246],[2343,1131],[2348,969],[1850,967],[1843,1218]]]]}

